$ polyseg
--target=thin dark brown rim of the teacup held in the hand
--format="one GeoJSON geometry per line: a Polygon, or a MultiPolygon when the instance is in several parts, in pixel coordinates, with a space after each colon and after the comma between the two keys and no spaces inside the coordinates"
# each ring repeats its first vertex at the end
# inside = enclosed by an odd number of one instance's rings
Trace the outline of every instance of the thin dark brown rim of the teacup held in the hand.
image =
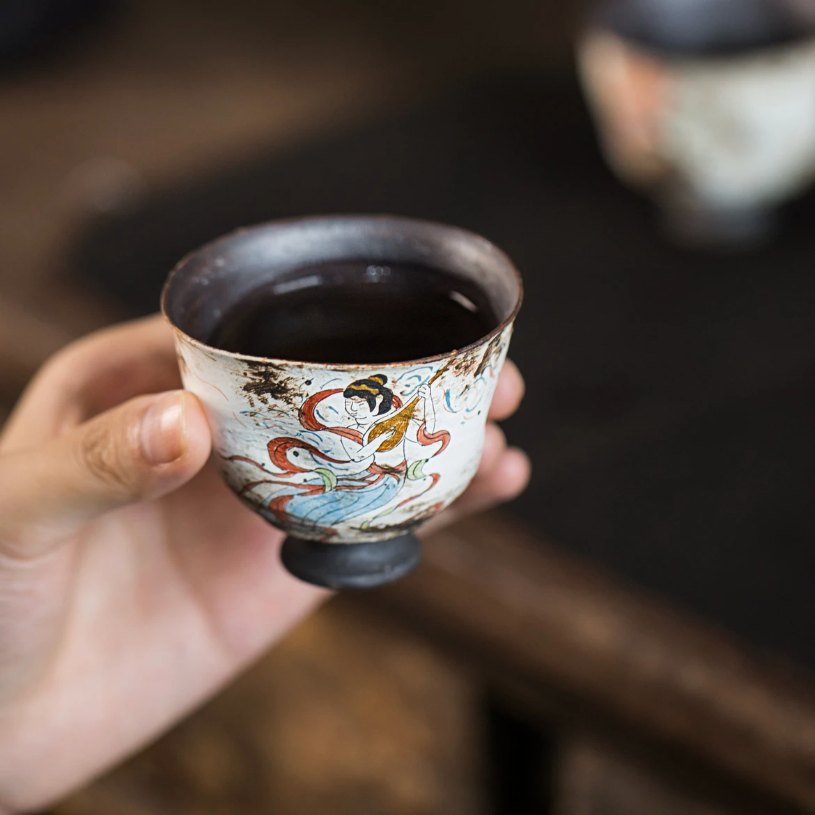
{"type": "Polygon", "coordinates": [[[513,324],[513,321],[518,316],[518,311],[521,310],[521,304],[523,301],[523,280],[521,277],[521,273],[513,264],[512,260],[509,256],[504,253],[503,250],[499,249],[495,244],[491,242],[491,240],[487,240],[487,238],[478,235],[476,232],[472,232],[466,229],[462,229],[461,227],[453,227],[444,223],[439,223],[435,221],[427,221],[418,218],[403,218],[398,215],[388,215],[388,214],[378,214],[378,215],[312,215],[307,216],[305,218],[283,218],[280,220],[275,221],[267,221],[264,223],[257,224],[252,227],[240,227],[231,232],[227,232],[226,235],[220,236],[215,240],[209,241],[203,246],[200,246],[198,249],[194,249],[192,252],[187,253],[170,271],[170,274],[167,276],[167,280],[165,281],[164,287],[161,290],[161,314],[164,316],[164,319],[170,325],[170,328],[174,330],[175,333],[178,333],[181,337],[183,337],[187,342],[191,343],[193,346],[199,347],[201,350],[209,351],[210,353],[214,353],[216,355],[222,355],[226,357],[230,357],[231,359],[242,359],[248,362],[254,363],[266,363],[269,365],[275,366],[295,366],[295,367],[315,367],[315,368],[324,368],[325,370],[331,371],[355,371],[359,368],[371,368],[376,367],[376,365],[380,367],[390,367],[390,368],[407,368],[415,365],[421,365],[425,363],[433,363],[438,362],[439,360],[443,359],[451,359],[452,357],[456,357],[457,355],[466,354],[471,350],[475,350],[489,341],[491,341],[494,337],[498,337],[500,333],[504,331],[509,325],[513,324]],[[420,233],[435,233],[436,235],[443,234],[447,236],[449,239],[458,239],[466,244],[472,246],[478,246],[485,252],[489,252],[494,256],[494,260],[496,262],[500,262],[506,272],[513,277],[513,283],[518,287],[518,297],[516,297],[514,305],[512,309],[509,311],[509,315],[505,317],[500,324],[493,328],[489,333],[484,334],[482,337],[479,337],[478,340],[471,342],[468,346],[464,346],[462,348],[454,348],[449,351],[444,351],[441,354],[435,354],[432,356],[421,357],[419,359],[404,359],[398,360],[389,363],[315,363],[315,362],[308,362],[306,360],[297,360],[297,359],[278,359],[275,357],[258,357],[252,356],[248,354],[239,354],[235,351],[227,351],[222,348],[218,348],[218,346],[210,346],[206,342],[200,341],[196,339],[196,337],[192,337],[183,328],[180,328],[175,321],[170,317],[169,314],[169,299],[171,289],[173,287],[174,281],[177,280],[178,275],[180,275],[183,271],[186,270],[187,266],[191,263],[196,261],[196,259],[201,258],[205,253],[214,253],[217,252],[219,248],[226,247],[227,245],[234,244],[237,240],[251,238],[252,236],[258,236],[262,232],[270,231],[271,229],[278,230],[280,228],[285,227],[296,227],[300,225],[318,225],[318,224],[336,224],[339,225],[343,222],[348,223],[349,225],[355,225],[356,227],[364,226],[365,224],[370,224],[371,226],[390,226],[393,228],[394,232],[401,232],[403,234],[412,234],[416,236],[420,233]]]}

